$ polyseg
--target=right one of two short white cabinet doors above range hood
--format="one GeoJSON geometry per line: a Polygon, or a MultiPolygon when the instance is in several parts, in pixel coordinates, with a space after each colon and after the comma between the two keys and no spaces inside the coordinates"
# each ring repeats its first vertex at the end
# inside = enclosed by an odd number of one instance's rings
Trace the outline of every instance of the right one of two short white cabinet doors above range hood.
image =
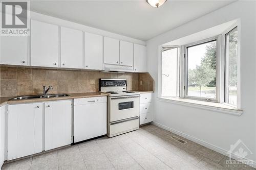
{"type": "Polygon", "coordinates": [[[120,41],[120,65],[133,66],[133,43],[120,41]]]}

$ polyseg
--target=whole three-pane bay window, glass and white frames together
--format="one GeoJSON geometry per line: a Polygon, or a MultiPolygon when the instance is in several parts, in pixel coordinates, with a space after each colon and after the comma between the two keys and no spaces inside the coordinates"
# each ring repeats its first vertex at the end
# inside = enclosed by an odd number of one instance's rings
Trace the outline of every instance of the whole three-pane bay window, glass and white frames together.
{"type": "Polygon", "coordinates": [[[162,46],[160,98],[203,100],[240,109],[238,37],[235,26],[216,37],[180,46],[162,46]]]}

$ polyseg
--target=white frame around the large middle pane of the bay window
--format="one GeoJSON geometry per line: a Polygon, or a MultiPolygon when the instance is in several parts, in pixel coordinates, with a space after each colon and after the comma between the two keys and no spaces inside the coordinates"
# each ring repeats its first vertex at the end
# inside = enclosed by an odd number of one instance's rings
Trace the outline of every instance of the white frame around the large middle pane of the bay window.
{"type": "Polygon", "coordinates": [[[194,100],[200,100],[200,101],[208,101],[208,102],[218,102],[219,100],[219,94],[218,94],[218,89],[220,88],[217,81],[219,79],[219,74],[218,74],[218,65],[219,65],[219,54],[218,54],[218,45],[219,45],[219,40],[218,40],[218,36],[215,37],[211,37],[211,38],[207,38],[204,40],[200,40],[200,41],[196,41],[193,43],[189,43],[184,45],[184,85],[183,85],[183,90],[184,90],[184,98],[185,99],[194,99],[194,100]],[[216,99],[214,98],[203,98],[203,97],[198,97],[198,96],[190,96],[187,95],[187,90],[188,90],[188,54],[187,54],[187,48],[188,47],[193,47],[193,46],[197,46],[197,45],[201,45],[204,43],[208,43],[208,42],[212,42],[212,41],[216,41],[216,99]]]}

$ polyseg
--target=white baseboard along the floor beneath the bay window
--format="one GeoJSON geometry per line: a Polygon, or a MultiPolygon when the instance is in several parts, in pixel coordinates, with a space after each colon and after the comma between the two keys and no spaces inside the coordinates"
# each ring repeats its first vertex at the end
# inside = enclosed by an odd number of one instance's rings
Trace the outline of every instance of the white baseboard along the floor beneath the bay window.
{"type": "MultiPolygon", "coordinates": [[[[222,155],[225,155],[225,156],[229,157],[229,154],[228,154],[228,151],[227,151],[227,150],[224,150],[224,149],[222,149],[222,148],[219,148],[219,147],[217,147],[217,146],[214,145],[214,144],[207,143],[207,142],[205,142],[205,141],[202,141],[202,140],[200,140],[200,139],[197,139],[197,138],[195,138],[195,137],[193,137],[193,136],[187,135],[187,134],[182,133],[182,132],[180,132],[180,131],[177,131],[177,130],[175,130],[175,129],[169,128],[169,127],[167,127],[167,126],[165,126],[165,125],[162,125],[162,124],[159,124],[159,123],[157,123],[157,122],[152,122],[152,124],[155,125],[155,126],[157,126],[157,127],[162,128],[162,129],[165,129],[165,130],[167,130],[167,131],[173,132],[173,133],[175,133],[175,134],[177,134],[177,135],[179,135],[179,136],[182,136],[182,137],[184,137],[184,138],[186,138],[186,139],[188,139],[188,140],[194,141],[194,142],[196,142],[196,143],[198,143],[198,144],[203,145],[203,146],[206,147],[206,148],[209,148],[209,149],[214,150],[214,151],[216,151],[216,152],[218,152],[218,153],[220,153],[220,154],[222,154],[222,155]]],[[[233,153],[232,153],[232,155],[231,155],[231,158],[232,158],[232,159],[236,159],[236,157],[234,156],[233,153]]],[[[248,161],[249,161],[249,160],[248,160],[248,161]]],[[[250,161],[251,161],[251,160],[250,160],[250,161]]],[[[249,166],[252,166],[252,167],[256,168],[256,162],[253,161],[253,164],[252,164],[252,165],[249,164],[249,166]]]]}

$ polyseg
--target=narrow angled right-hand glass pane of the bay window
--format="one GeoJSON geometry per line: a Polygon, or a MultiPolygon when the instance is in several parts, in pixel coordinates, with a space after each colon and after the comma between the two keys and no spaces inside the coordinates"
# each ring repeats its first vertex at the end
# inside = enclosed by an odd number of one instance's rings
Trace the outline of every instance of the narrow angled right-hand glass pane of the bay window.
{"type": "Polygon", "coordinates": [[[225,35],[225,102],[237,105],[238,93],[238,28],[225,35]]]}

